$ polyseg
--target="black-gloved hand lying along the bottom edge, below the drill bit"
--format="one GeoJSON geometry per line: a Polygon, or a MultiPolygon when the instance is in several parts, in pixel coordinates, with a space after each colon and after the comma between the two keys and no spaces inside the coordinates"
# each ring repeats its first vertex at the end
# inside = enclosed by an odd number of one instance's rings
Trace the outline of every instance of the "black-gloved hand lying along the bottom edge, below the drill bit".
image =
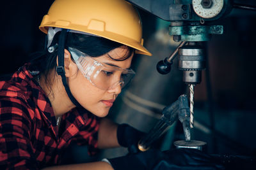
{"type": "Polygon", "coordinates": [[[210,155],[200,150],[180,148],[161,152],[150,149],[146,152],[108,159],[115,170],[125,169],[224,169],[210,155]]]}

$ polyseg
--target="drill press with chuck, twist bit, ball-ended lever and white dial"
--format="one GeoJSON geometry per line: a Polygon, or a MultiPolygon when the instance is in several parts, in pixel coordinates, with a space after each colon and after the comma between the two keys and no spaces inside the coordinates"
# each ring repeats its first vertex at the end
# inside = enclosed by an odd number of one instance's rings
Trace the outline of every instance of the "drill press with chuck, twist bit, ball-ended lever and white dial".
{"type": "MultiPolygon", "coordinates": [[[[189,127],[194,127],[194,87],[202,78],[205,68],[205,49],[202,43],[210,41],[213,34],[223,34],[222,25],[212,21],[227,16],[232,8],[256,11],[255,6],[237,4],[233,0],[127,0],[163,20],[170,21],[169,34],[174,41],[181,41],[177,49],[166,59],[157,63],[157,71],[167,74],[173,59],[179,53],[179,69],[183,81],[189,86],[189,127]]],[[[202,149],[201,141],[176,141],[175,146],[202,149]]]]}

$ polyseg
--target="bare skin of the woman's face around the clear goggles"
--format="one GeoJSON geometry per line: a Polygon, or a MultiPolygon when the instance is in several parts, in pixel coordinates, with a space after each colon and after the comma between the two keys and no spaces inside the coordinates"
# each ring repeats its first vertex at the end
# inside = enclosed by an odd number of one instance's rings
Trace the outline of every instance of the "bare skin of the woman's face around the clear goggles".
{"type": "MultiPolygon", "coordinates": [[[[112,66],[118,66],[122,69],[128,69],[131,66],[133,53],[128,59],[122,61],[113,60],[120,59],[125,55],[128,55],[128,50],[129,48],[126,46],[120,46],[119,48],[115,48],[105,55],[93,57],[93,59],[99,62],[108,63],[112,66]],[[111,59],[108,55],[113,59],[111,59]]],[[[120,73],[118,72],[114,74],[116,74],[116,76],[120,76],[120,73]]],[[[99,89],[89,80],[87,80],[81,71],[77,71],[76,75],[68,78],[68,85],[79,104],[97,117],[106,117],[106,115],[108,115],[109,109],[113,105],[113,102],[118,94],[121,92],[120,85],[108,90],[99,89]]]]}

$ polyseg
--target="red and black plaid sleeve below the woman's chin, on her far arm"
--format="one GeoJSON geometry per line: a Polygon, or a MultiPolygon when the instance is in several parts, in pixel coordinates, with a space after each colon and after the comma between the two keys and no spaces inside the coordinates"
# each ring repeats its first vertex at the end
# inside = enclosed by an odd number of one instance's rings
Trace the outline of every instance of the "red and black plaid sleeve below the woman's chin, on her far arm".
{"type": "Polygon", "coordinates": [[[95,155],[98,152],[99,117],[92,113],[85,114],[87,122],[77,134],[76,141],[77,145],[88,145],[88,154],[95,155]]]}

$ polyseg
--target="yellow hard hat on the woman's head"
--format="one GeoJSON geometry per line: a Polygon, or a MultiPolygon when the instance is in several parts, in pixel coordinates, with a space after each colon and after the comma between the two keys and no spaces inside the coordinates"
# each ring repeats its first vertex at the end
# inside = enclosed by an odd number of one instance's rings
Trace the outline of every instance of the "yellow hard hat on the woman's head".
{"type": "Polygon", "coordinates": [[[124,0],[55,0],[39,29],[59,27],[101,36],[151,55],[143,46],[138,12],[124,0]]]}

